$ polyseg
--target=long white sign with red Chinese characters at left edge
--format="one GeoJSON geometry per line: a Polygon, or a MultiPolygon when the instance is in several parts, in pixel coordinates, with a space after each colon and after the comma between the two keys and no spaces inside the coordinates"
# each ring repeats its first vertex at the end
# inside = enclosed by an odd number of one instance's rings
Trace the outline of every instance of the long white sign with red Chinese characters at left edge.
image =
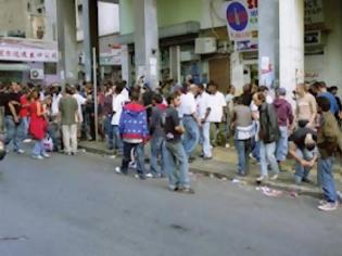
{"type": "Polygon", "coordinates": [[[58,62],[56,43],[0,38],[0,61],[58,62]]]}

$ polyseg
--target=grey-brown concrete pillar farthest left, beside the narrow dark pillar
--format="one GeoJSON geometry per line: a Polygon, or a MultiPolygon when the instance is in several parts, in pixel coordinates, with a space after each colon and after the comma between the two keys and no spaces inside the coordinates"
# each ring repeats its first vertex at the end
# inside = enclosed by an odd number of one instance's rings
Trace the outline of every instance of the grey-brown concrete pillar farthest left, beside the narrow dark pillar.
{"type": "Polygon", "coordinates": [[[75,82],[78,72],[75,1],[59,0],[56,14],[60,80],[62,82],[75,82]]]}

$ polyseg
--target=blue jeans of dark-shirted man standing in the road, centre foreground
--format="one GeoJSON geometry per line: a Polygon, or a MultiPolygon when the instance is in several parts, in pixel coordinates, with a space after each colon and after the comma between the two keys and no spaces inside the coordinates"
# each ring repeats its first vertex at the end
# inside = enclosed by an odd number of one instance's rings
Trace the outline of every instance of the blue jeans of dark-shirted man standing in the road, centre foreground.
{"type": "Polygon", "coordinates": [[[166,141],[163,152],[168,187],[170,189],[190,188],[188,157],[182,144],[166,141]]]}

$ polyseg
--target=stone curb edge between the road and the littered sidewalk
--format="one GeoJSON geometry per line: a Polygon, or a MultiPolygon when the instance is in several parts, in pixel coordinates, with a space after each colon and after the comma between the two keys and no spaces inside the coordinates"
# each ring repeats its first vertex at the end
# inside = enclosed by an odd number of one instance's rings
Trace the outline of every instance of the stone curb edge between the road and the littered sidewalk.
{"type": "MultiPolygon", "coordinates": [[[[106,150],[99,150],[99,149],[93,149],[90,146],[84,146],[84,145],[79,145],[79,149],[86,150],[86,152],[88,153],[92,153],[92,154],[97,154],[97,155],[103,155],[103,156],[109,156],[109,155],[113,155],[113,152],[111,151],[106,151],[106,150]]],[[[228,181],[232,181],[233,179],[236,179],[237,177],[231,176],[231,175],[225,175],[225,174],[219,174],[214,171],[208,171],[205,169],[199,169],[199,168],[191,168],[190,165],[190,171],[193,174],[199,174],[199,175],[203,175],[205,177],[215,177],[217,179],[227,179],[228,181]]],[[[231,170],[231,174],[235,174],[233,170],[231,170]]],[[[244,177],[244,178],[240,178],[240,180],[242,182],[245,182],[248,185],[251,187],[259,187],[256,184],[255,179],[251,178],[251,177],[244,177]]],[[[318,188],[307,188],[307,187],[301,187],[301,185],[296,185],[296,184],[287,184],[287,183],[282,183],[282,182],[273,182],[273,181],[266,181],[263,182],[262,185],[275,189],[275,190],[281,190],[284,192],[295,192],[299,195],[306,195],[306,196],[311,196],[311,197],[315,197],[315,199],[320,199],[321,197],[321,191],[318,188]]]]}

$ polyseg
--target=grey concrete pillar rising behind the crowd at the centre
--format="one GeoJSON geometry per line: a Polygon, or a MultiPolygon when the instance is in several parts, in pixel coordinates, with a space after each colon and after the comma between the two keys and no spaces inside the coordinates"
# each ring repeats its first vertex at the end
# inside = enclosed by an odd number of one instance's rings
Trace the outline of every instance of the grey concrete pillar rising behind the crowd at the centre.
{"type": "Polygon", "coordinates": [[[155,89],[160,77],[156,0],[134,1],[136,74],[155,89]]]}

